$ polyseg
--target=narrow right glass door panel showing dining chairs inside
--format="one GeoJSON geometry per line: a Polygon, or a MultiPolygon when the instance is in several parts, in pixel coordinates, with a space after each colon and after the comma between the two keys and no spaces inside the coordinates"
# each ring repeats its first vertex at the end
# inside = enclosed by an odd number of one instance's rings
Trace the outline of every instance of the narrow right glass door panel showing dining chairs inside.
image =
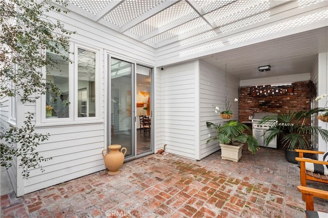
{"type": "Polygon", "coordinates": [[[151,68],[136,68],[137,155],[151,151],[151,68]]]}

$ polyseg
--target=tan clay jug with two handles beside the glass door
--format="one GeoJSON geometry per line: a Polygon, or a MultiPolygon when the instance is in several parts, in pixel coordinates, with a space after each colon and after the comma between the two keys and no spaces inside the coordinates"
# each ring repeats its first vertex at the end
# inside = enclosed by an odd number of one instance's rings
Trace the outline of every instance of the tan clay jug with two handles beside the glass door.
{"type": "Polygon", "coordinates": [[[108,175],[117,175],[119,173],[119,168],[123,165],[124,156],[127,153],[127,148],[122,147],[121,145],[109,145],[108,148],[110,151],[108,152],[107,149],[101,151],[101,155],[104,157],[104,162],[109,170],[108,175]],[[123,150],[125,150],[123,152],[123,150]],[[104,151],[106,151],[106,155],[104,155],[104,151]]]}

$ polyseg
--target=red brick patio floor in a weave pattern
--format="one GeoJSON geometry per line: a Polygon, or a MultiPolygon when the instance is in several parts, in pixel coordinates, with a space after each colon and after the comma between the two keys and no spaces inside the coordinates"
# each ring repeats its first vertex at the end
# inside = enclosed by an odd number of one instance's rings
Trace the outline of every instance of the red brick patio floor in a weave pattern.
{"type": "MultiPolygon", "coordinates": [[[[245,146],[244,146],[245,147],[245,146]]],[[[16,198],[1,196],[4,217],[305,217],[299,168],[284,151],[243,148],[238,163],[220,151],[193,161],[149,155],[16,198]]],[[[327,189],[326,185],[309,186],[327,189]]],[[[325,211],[328,201],[315,199],[325,211]]]]}

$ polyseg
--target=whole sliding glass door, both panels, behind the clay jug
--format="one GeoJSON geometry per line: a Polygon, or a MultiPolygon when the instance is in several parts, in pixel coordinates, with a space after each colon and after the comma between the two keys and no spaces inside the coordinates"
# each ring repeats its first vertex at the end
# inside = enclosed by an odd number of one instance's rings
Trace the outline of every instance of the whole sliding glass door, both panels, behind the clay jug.
{"type": "Polygon", "coordinates": [[[127,148],[127,158],[151,154],[152,68],[110,58],[109,143],[127,148]]]}

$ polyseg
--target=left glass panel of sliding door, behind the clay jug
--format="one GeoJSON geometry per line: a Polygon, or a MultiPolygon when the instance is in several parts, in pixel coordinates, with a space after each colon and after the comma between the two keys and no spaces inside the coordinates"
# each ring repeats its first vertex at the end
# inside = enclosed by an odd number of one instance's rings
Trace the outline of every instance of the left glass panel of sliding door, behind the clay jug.
{"type": "Polygon", "coordinates": [[[134,139],[132,75],[134,75],[133,63],[111,58],[110,144],[119,144],[127,148],[126,158],[135,155],[135,143],[132,140],[134,139]]]}

